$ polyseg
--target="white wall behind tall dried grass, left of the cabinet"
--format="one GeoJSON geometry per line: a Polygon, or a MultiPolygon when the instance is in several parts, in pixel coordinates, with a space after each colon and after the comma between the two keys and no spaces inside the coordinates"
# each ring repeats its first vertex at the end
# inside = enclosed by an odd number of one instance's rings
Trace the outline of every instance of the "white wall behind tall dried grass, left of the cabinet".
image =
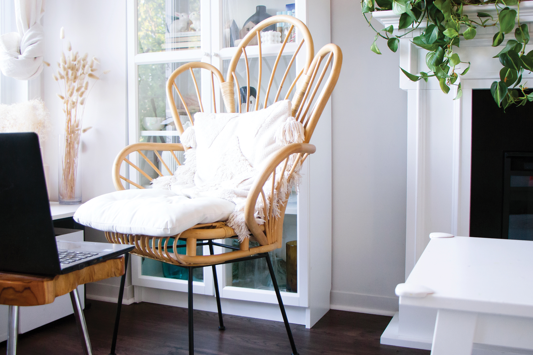
{"type": "MultiPolygon", "coordinates": [[[[111,165],[126,145],[126,2],[49,0],[42,21],[46,40],[44,58],[52,63],[43,71],[41,87],[52,120],[52,129],[44,146],[44,160],[50,164],[51,201],[58,201],[58,134],[64,128],[64,114],[56,96],[59,88],[52,79],[52,69],[58,69],[56,62],[61,54],[60,28],[65,29],[64,51],[67,40],[70,40],[74,51],[98,57],[101,68],[111,70],[96,83],[86,103],[83,127],[93,128],[82,135],[82,194],[85,202],[115,191],[111,165]]],[[[85,240],[106,241],[102,232],[91,228],[86,228],[85,240]]],[[[119,278],[112,278],[98,285],[87,285],[87,294],[97,292],[93,291],[94,287],[103,287],[116,297],[119,282],[119,278]]],[[[126,291],[125,299],[133,298],[132,291],[126,291]]]]}

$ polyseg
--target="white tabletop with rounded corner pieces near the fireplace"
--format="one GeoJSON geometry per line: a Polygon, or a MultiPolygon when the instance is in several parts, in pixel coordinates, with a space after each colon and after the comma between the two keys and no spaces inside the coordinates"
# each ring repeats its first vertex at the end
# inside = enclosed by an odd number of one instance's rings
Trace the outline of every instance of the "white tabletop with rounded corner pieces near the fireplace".
{"type": "Polygon", "coordinates": [[[533,317],[533,242],[474,237],[435,238],[406,284],[431,288],[400,304],[533,317]]]}

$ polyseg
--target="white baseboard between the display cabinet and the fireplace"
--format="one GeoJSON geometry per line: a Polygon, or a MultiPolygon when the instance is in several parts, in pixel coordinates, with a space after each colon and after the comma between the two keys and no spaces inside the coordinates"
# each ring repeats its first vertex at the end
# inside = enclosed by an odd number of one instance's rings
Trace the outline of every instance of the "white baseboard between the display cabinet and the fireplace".
{"type": "Polygon", "coordinates": [[[394,316],[394,313],[398,312],[398,298],[390,296],[332,291],[330,303],[331,309],[372,315],[394,316]]]}

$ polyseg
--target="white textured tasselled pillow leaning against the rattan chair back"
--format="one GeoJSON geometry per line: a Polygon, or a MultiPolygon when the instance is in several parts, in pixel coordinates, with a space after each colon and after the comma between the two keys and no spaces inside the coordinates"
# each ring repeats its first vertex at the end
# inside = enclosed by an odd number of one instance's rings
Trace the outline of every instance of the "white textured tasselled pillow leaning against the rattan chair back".
{"type": "Polygon", "coordinates": [[[284,100],[247,113],[196,113],[195,184],[255,176],[265,159],[283,146],[275,137],[290,117],[290,108],[290,100],[284,100]],[[240,163],[236,159],[241,159],[240,163]]]}

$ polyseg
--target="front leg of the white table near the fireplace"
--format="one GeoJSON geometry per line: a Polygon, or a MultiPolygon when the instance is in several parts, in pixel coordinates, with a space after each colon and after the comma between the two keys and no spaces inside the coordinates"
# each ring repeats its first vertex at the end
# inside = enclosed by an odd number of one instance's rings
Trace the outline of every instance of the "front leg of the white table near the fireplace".
{"type": "Polygon", "coordinates": [[[478,314],[439,309],[431,355],[471,355],[478,314]]]}

